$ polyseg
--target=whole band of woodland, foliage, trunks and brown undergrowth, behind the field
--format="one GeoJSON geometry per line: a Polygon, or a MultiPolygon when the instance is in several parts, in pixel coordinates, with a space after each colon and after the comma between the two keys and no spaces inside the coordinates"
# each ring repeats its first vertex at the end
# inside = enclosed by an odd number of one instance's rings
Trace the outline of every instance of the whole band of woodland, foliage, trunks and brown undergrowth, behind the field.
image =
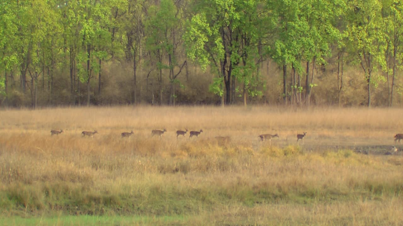
{"type": "Polygon", "coordinates": [[[0,104],[403,105],[400,0],[0,2],[0,104]]]}

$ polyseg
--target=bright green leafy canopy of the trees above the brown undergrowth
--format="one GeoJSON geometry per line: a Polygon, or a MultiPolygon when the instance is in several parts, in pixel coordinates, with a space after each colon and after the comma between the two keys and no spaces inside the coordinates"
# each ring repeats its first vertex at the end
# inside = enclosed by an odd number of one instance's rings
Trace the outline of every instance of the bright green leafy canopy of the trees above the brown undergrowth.
{"type": "MultiPolygon", "coordinates": [[[[234,96],[256,97],[266,85],[258,70],[262,62],[274,60],[306,76],[306,62],[325,67],[337,48],[378,88],[385,82],[380,68],[388,74],[403,69],[402,21],[397,0],[2,1],[0,72],[29,83],[24,74],[49,82],[51,71],[56,82],[64,81],[70,66],[72,76],[89,82],[99,60],[136,60],[160,69],[162,83],[168,71],[175,79],[178,61],[186,58],[223,79],[210,85],[216,95],[235,85],[234,96]]],[[[308,91],[317,85],[312,83],[295,88],[308,91]]]]}

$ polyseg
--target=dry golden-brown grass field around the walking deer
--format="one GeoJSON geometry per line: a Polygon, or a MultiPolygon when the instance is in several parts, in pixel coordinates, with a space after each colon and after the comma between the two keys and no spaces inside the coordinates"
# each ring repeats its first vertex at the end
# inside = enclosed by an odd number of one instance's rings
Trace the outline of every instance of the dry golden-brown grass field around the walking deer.
{"type": "Polygon", "coordinates": [[[1,110],[0,221],[402,225],[403,146],[393,140],[403,133],[402,113],[281,107],[1,110]],[[164,128],[162,138],[151,136],[164,128]],[[185,128],[203,132],[177,139],[175,131],[185,128]],[[51,129],[64,132],[51,136],[51,129]],[[81,137],[81,131],[93,130],[93,138],[81,137]],[[132,130],[130,138],[120,136],[132,130]],[[302,132],[307,135],[297,143],[302,132]],[[260,142],[260,134],[279,138],[270,145],[260,142]],[[399,151],[384,155],[393,145],[399,151]]]}

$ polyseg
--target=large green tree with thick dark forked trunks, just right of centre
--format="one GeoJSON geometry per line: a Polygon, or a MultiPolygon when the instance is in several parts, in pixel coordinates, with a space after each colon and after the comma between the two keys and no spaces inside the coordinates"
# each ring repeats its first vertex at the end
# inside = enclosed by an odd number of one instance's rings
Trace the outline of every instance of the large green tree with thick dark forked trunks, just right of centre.
{"type": "Polygon", "coordinates": [[[256,53],[262,33],[253,27],[259,24],[259,4],[241,0],[193,2],[193,15],[184,35],[187,56],[204,70],[210,65],[218,75],[210,90],[221,96],[225,93],[222,103],[235,102],[235,80],[243,82],[244,101],[252,88],[251,72],[260,59],[256,53]]]}

